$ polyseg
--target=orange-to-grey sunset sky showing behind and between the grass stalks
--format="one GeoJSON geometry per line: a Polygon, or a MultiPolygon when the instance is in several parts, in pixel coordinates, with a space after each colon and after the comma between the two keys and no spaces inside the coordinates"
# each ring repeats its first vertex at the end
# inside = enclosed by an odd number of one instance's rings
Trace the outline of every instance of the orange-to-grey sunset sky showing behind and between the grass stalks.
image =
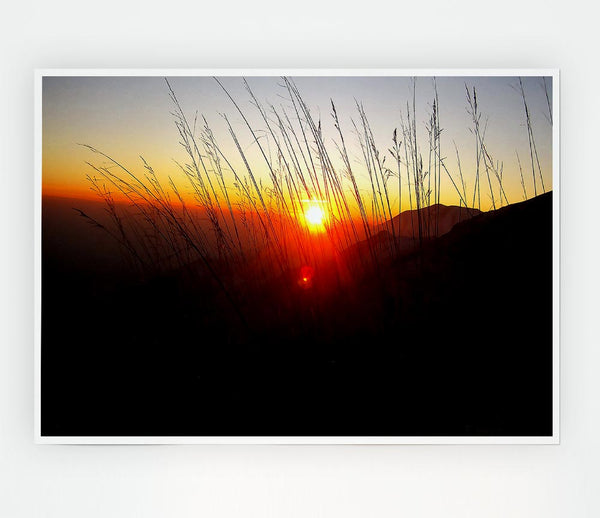
{"type": "MultiPolygon", "coordinates": [[[[108,164],[99,155],[78,144],[84,143],[104,151],[135,174],[143,174],[144,168],[139,155],[152,165],[164,181],[169,176],[182,192],[191,194],[178,166],[177,160],[186,162],[186,155],[178,144],[179,135],[174,124],[173,105],[163,78],[160,77],[46,77],[43,83],[43,142],[42,142],[42,184],[44,195],[89,197],[93,195],[86,181],[86,174],[93,170],[86,164],[97,166],[108,164]]],[[[196,110],[209,121],[217,141],[222,146],[231,164],[244,173],[244,164],[220,113],[226,113],[234,126],[240,144],[247,153],[251,164],[265,184],[268,184],[268,169],[253,137],[244,125],[231,101],[212,78],[196,77],[172,78],[171,84],[178,95],[187,116],[193,121],[196,110]]],[[[285,99],[286,92],[276,77],[249,78],[257,98],[261,103],[273,103],[293,115],[293,107],[285,99]]],[[[546,81],[551,97],[551,78],[546,81]]],[[[343,163],[334,144],[338,141],[331,119],[330,98],[336,102],[346,145],[353,163],[351,164],[361,189],[367,189],[368,178],[361,165],[361,152],[357,144],[353,121],[359,117],[354,105],[358,99],[364,104],[365,112],[373,129],[374,138],[380,152],[386,155],[386,165],[393,169],[395,164],[389,155],[391,136],[394,128],[400,126],[401,114],[406,119],[406,103],[412,102],[412,83],[406,77],[372,78],[297,78],[298,87],[310,106],[315,120],[320,120],[325,144],[336,170],[343,170],[343,163]]],[[[240,104],[265,149],[276,161],[275,143],[267,142],[265,123],[257,110],[250,105],[249,95],[241,78],[223,78],[223,83],[240,104]]],[[[475,141],[470,131],[472,123],[466,113],[465,83],[477,88],[479,108],[483,114],[481,124],[485,125],[486,146],[493,159],[503,164],[504,189],[510,202],[523,199],[520,172],[516,154],[519,154],[528,196],[533,195],[531,160],[528,133],[525,126],[523,104],[515,86],[516,78],[476,77],[438,78],[440,125],[442,151],[445,163],[455,180],[458,167],[454,144],[460,151],[461,167],[471,192],[474,184],[475,141]]],[[[416,87],[416,121],[419,133],[420,152],[427,168],[429,144],[426,121],[433,100],[432,78],[419,78],[416,87]]],[[[552,129],[548,118],[548,105],[542,79],[524,79],[529,103],[532,126],[538,158],[542,169],[546,190],[552,186],[552,129]]],[[[265,106],[268,106],[265,104],[265,106]]],[[[273,124],[273,121],[270,121],[273,124]]],[[[487,181],[487,180],[486,180],[487,181]]],[[[232,185],[234,178],[226,178],[232,185]]],[[[403,179],[403,210],[408,208],[406,180],[403,179]]],[[[346,185],[349,187],[349,185],[346,185]]],[[[442,174],[441,201],[458,204],[459,198],[446,173],[442,174]]],[[[539,180],[538,180],[538,188],[539,180]]],[[[491,206],[489,193],[482,184],[482,209],[491,206]]],[[[397,180],[390,180],[392,203],[397,206],[397,180]]],[[[470,198],[471,195],[468,195],[470,198]]],[[[471,201],[471,200],[469,200],[471,201]]]]}

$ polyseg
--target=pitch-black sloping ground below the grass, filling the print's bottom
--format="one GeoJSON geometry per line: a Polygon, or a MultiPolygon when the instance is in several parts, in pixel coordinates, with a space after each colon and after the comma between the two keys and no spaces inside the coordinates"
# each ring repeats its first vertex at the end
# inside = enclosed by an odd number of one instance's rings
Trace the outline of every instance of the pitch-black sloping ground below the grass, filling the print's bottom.
{"type": "Polygon", "coordinates": [[[551,193],[459,223],[351,292],[255,293],[244,332],[214,287],[132,280],[106,236],[86,227],[86,255],[51,210],[42,435],[552,434],[551,193]]]}

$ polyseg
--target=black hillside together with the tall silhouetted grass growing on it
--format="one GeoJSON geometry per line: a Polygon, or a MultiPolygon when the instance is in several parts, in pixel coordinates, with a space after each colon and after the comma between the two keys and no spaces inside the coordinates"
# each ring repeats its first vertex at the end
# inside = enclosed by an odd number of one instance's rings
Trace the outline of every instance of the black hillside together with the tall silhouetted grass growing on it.
{"type": "MultiPolygon", "coordinates": [[[[293,80],[282,79],[287,107],[245,83],[261,128],[216,81],[260,163],[223,114],[228,156],[168,82],[187,155],[179,178],[87,146],[104,211],[73,218],[109,236],[121,266],[61,264],[45,202],[43,433],[551,434],[552,195],[510,204],[475,89],[468,190],[459,150],[456,167],[442,154],[437,88],[426,160],[415,84],[386,152],[357,102],[356,165],[333,101],[332,149],[293,80]],[[442,177],[458,206],[441,204],[442,177]],[[322,225],[306,220],[314,204],[322,225]]],[[[526,199],[520,160],[519,174],[526,199]]]]}

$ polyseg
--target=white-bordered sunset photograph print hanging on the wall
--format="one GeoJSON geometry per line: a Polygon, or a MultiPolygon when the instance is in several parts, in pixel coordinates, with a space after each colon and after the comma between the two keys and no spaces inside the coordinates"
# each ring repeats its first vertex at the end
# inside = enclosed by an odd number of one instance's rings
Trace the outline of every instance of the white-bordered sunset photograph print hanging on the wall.
{"type": "Polygon", "coordinates": [[[556,70],[35,81],[37,442],[558,443],[556,70]]]}

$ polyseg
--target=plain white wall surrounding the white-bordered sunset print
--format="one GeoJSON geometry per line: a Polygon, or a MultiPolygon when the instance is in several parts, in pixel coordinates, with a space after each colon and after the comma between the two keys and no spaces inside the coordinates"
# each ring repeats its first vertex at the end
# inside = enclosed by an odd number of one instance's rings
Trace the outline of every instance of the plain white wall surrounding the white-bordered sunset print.
{"type": "Polygon", "coordinates": [[[0,517],[600,516],[596,17],[580,0],[386,4],[4,5],[0,517]],[[33,444],[33,69],[252,66],[561,69],[560,446],[33,444]]]}

